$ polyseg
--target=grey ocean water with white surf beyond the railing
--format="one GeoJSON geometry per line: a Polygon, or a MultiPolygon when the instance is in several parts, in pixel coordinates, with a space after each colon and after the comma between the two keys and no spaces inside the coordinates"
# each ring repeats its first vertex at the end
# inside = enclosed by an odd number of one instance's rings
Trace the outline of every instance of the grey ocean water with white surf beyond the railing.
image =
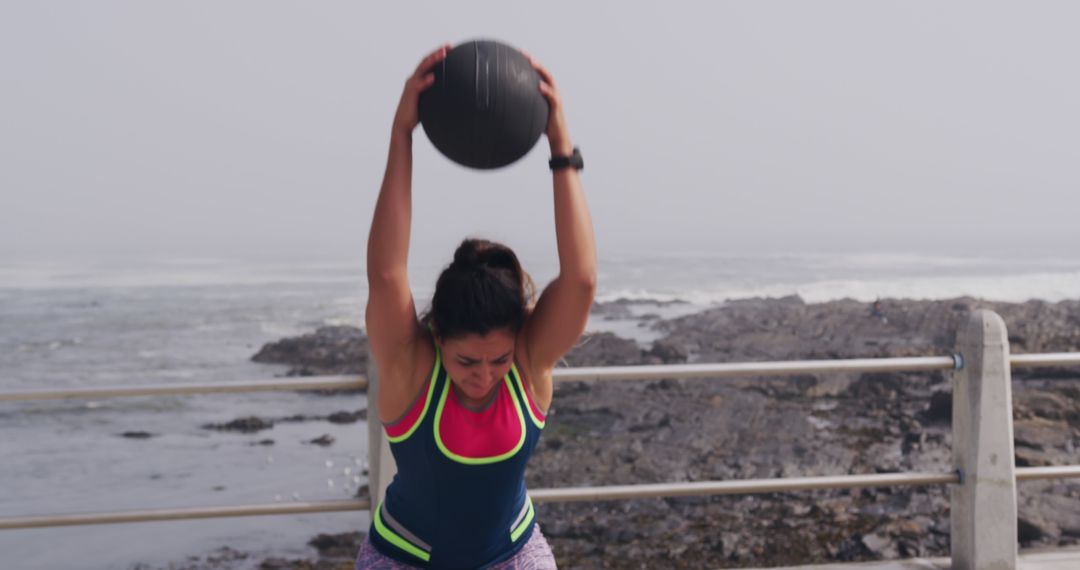
{"type": "MultiPolygon", "coordinates": [[[[524,259],[542,285],[551,259],[524,259]]],[[[418,307],[440,264],[410,268],[418,307]]],[[[0,391],[268,379],[266,342],[363,323],[362,267],[227,259],[22,261],[0,267],[0,391]]],[[[748,297],[809,302],[974,296],[1080,298],[1080,258],[602,253],[598,300],[672,317],[748,297]],[[667,303],[665,301],[684,301],[667,303]]],[[[594,318],[643,345],[637,318],[594,318]]],[[[276,423],[254,434],[207,423],[326,416],[364,395],[307,393],[0,403],[0,517],[343,499],[366,483],[366,425],[276,423]],[[148,432],[130,438],[125,432],[148,432]],[[330,435],[330,446],[310,442],[330,435]],[[265,440],[272,439],[272,444],[265,440]]],[[[319,532],[366,530],[363,513],[0,531],[4,569],[168,568],[222,546],[310,554],[319,532]]]]}

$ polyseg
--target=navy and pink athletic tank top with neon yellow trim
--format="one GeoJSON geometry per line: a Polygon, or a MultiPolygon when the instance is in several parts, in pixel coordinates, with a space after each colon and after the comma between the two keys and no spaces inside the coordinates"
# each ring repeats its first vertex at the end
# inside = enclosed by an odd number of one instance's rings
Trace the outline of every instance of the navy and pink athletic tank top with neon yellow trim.
{"type": "Polygon", "coordinates": [[[421,568],[484,568],[512,557],[536,524],[525,464],[543,425],[516,364],[491,403],[473,411],[458,399],[436,345],[419,397],[383,426],[397,473],[373,512],[375,547],[421,568]]]}

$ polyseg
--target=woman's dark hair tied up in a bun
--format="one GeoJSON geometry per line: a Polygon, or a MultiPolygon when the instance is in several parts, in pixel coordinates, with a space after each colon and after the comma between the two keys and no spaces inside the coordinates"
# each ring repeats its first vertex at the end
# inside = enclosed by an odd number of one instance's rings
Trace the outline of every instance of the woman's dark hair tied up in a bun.
{"type": "Polygon", "coordinates": [[[525,326],[534,290],[511,248],[467,239],[438,275],[422,321],[443,338],[483,336],[500,328],[516,335],[525,326]]]}

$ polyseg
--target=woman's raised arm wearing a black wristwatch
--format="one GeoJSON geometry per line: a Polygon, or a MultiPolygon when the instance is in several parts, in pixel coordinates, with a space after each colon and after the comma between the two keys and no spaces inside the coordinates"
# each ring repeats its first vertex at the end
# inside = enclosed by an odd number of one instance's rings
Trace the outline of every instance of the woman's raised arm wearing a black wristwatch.
{"type": "MultiPolygon", "coordinates": [[[[551,153],[568,155],[573,144],[555,82],[542,65],[531,57],[529,60],[540,72],[540,92],[551,106],[546,128],[551,153]]],[[[534,390],[545,402],[551,397],[550,371],[585,329],[596,294],[596,241],[581,178],[576,168],[562,168],[552,176],[558,276],[544,288],[525,325],[528,357],[535,374],[534,390]]]]}

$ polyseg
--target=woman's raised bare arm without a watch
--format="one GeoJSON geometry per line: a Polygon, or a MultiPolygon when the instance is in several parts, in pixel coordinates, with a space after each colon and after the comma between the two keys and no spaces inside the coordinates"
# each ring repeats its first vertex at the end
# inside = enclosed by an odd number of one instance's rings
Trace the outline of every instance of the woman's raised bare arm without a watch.
{"type": "Polygon", "coordinates": [[[449,46],[435,50],[405,81],[390,132],[390,154],[367,236],[367,337],[379,365],[379,409],[391,407],[414,391],[402,379],[415,379],[414,351],[418,335],[416,306],[408,283],[408,245],[413,221],[413,131],[419,123],[420,92],[431,86],[431,69],[449,46]],[[394,380],[394,381],[387,381],[394,380]]]}

